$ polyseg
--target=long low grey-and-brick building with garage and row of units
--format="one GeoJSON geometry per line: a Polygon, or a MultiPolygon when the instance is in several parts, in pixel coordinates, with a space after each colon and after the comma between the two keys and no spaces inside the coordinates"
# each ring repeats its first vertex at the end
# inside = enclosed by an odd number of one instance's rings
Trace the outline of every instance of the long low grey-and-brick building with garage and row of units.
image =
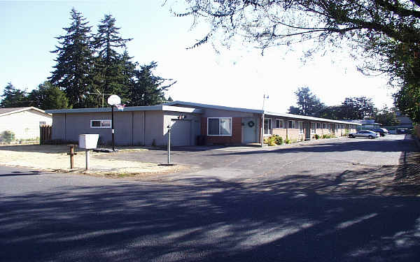
{"type": "MultiPolygon", "coordinates": [[[[99,133],[101,143],[111,141],[111,108],[47,110],[52,114],[52,139],[77,141],[81,133],[99,133]]],[[[262,137],[279,135],[290,140],[310,140],[315,134],[344,136],[356,126],[344,121],[306,117],[248,108],[231,108],[174,101],[162,105],[126,107],[116,111],[117,145],[244,145],[261,143],[262,137]],[[263,135],[262,122],[264,122],[263,135]]]]}

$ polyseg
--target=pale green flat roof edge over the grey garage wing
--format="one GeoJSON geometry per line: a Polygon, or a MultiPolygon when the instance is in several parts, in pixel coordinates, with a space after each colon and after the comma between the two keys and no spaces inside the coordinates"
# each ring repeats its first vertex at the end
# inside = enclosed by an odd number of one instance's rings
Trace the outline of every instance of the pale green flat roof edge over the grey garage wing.
{"type": "MultiPolygon", "coordinates": [[[[114,109],[115,112],[118,110],[114,109]]],[[[174,112],[194,112],[194,113],[202,113],[203,110],[197,108],[182,108],[179,106],[171,106],[171,105],[149,105],[149,106],[126,106],[124,108],[125,112],[130,111],[174,111],[174,112]]],[[[111,112],[111,108],[75,108],[75,109],[53,109],[53,110],[45,110],[45,112],[51,114],[64,114],[64,113],[80,113],[80,112],[111,112]]]]}

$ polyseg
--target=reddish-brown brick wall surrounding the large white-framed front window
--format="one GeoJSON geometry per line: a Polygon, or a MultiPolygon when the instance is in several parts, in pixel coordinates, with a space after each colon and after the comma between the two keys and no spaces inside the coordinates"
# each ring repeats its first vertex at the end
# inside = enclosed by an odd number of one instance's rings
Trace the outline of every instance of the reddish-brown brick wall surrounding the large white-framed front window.
{"type": "Polygon", "coordinates": [[[207,118],[202,117],[201,134],[206,136],[208,145],[240,145],[242,142],[242,119],[241,117],[232,117],[232,136],[207,136],[207,118]]]}

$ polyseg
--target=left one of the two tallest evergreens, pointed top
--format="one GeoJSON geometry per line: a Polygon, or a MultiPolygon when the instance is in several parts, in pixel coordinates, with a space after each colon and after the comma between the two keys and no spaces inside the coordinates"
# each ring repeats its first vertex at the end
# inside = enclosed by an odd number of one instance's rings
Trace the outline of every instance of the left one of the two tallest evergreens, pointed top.
{"type": "Polygon", "coordinates": [[[85,93],[92,88],[90,76],[92,69],[92,49],[90,47],[90,29],[85,18],[74,8],[71,9],[71,25],[63,28],[66,35],[58,36],[59,46],[52,51],[57,53],[50,81],[64,90],[69,105],[73,108],[89,107],[90,101],[85,93]]]}

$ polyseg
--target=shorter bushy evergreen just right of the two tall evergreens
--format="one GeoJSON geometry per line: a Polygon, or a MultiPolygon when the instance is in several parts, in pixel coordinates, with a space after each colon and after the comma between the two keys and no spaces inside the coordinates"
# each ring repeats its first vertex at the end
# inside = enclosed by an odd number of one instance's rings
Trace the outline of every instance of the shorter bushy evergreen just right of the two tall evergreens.
{"type": "Polygon", "coordinates": [[[158,64],[152,61],[151,64],[140,66],[136,71],[136,81],[130,92],[130,106],[135,105],[157,105],[166,102],[165,91],[174,85],[176,81],[161,78],[153,75],[153,69],[158,64]],[[171,81],[168,85],[165,82],[171,81]]]}

